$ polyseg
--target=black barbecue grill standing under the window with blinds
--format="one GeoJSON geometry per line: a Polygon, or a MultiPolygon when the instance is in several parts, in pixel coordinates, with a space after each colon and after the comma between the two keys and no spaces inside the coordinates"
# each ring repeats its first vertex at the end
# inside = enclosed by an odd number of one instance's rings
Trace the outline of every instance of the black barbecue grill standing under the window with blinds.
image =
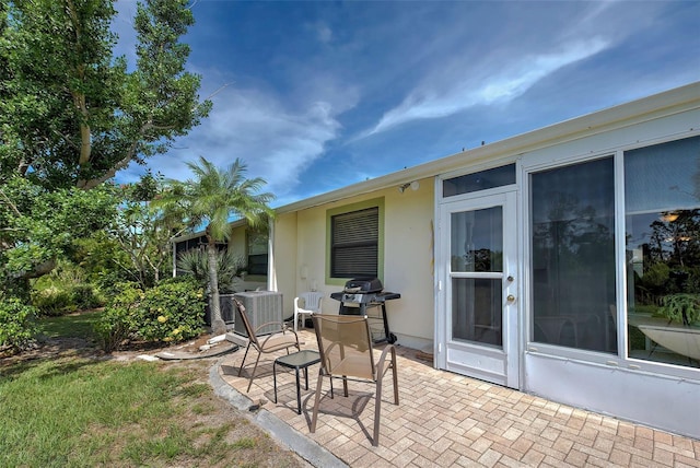
{"type": "Polygon", "coordinates": [[[399,293],[384,291],[378,278],[355,278],[346,282],[342,291],[330,294],[330,299],[340,302],[340,315],[366,315],[373,321],[381,320],[383,330],[370,327],[372,339],[375,343],[387,341],[396,342],[396,335],[389,331],[389,321],[386,318],[386,301],[400,299],[399,293]],[[371,314],[375,308],[381,309],[381,315],[371,314]],[[370,313],[368,313],[370,311],[370,313]],[[383,332],[383,335],[381,335],[383,332]],[[377,338],[375,338],[377,337],[377,338]]]}

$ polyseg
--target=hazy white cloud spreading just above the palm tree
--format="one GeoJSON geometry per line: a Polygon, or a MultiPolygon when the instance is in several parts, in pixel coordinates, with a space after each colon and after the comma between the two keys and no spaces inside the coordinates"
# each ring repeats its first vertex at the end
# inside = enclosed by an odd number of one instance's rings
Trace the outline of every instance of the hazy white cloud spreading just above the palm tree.
{"type": "Polygon", "coordinates": [[[267,180],[265,191],[283,197],[296,188],[300,174],[337,137],[340,125],[332,105],[318,101],[290,112],[254,90],[229,86],[214,96],[214,108],[200,127],[151,165],[168,178],[190,177],[187,161],[203,156],[220,167],[240,157],[247,177],[267,180]]]}

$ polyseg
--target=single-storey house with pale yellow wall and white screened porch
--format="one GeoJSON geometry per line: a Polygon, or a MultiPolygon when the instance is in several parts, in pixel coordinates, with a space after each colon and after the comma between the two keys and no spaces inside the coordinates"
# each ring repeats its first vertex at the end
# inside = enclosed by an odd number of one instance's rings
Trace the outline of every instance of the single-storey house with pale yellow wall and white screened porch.
{"type": "Polygon", "coordinates": [[[281,207],[267,288],[374,273],[436,368],[700,438],[700,334],[650,338],[699,237],[700,82],[281,207]]]}

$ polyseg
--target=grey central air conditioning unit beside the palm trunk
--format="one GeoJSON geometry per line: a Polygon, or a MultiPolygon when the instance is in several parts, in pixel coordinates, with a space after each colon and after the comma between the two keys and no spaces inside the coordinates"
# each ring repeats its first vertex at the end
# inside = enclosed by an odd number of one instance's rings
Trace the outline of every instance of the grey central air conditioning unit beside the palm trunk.
{"type": "MultiPolygon", "coordinates": [[[[245,312],[248,315],[253,329],[258,328],[260,325],[268,321],[275,321],[276,325],[269,325],[258,330],[256,335],[269,335],[276,331],[280,331],[283,320],[282,317],[282,293],[275,291],[248,291],[243,293],[235,293],[235,299],[241,301],[241,304],[245,307],[245,312]]],[[[247,337],[245,331],[243,319],[240,317],[241,313],[236,308],[236,318],[233,324],[233,331],[237,335],[247,337]]]]}

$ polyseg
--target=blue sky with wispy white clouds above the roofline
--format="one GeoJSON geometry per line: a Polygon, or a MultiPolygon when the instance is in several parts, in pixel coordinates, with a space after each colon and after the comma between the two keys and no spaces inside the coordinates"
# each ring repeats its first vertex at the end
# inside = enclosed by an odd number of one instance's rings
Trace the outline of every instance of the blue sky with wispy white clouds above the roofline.
{"type": "Polygon", "coordinates": [[[192,3],[213,109],[149,166],[240,157],[276,207],[700,80],[700,1],[192,3]]]}

